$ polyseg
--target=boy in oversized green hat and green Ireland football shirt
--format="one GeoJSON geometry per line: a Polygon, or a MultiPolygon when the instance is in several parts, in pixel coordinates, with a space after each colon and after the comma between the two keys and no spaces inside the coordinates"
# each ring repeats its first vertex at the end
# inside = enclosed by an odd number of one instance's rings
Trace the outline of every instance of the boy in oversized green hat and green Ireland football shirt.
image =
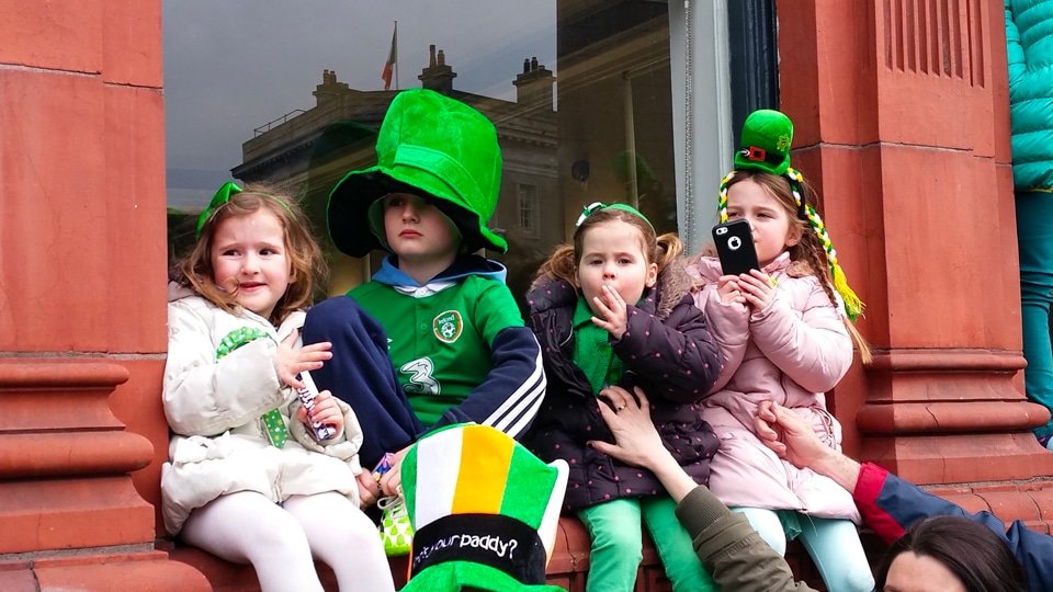
{"type": "MultiPolygon", "coordinates": [[[[400,92],[376,141],[375,167],[351,171],[329,195],[328,226],[342,252],[390,253],[374,277],[315,306],[304,342],[332,343],[313,371],[354,409],[371,467],[393,453],[373,496],[400,491],[405,451],[427,431],[475,422],[512,437],[541,405],[541,349],[505,285],[505,267],[477,254],[507,250],[486,227],[497,205],[501,153],[494,125],[468,105],[423,89],[400,92]],[[361,319],[380,321],[392,362],[390,388],[361,388],[361,319]]],[[[370,499],[372,496],[366,496],[370,499]]]]}

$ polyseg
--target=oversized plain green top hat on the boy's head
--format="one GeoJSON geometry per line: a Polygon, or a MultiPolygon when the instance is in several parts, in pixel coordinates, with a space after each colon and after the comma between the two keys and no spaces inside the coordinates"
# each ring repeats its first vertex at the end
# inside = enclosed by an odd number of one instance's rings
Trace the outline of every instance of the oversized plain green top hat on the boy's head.
{"type": "Polygon", "coordinates": [[[398,93],[376,138],[376,166],[351,171],[329,194],[329,236],[362,257],[385,249],[383,214],[371,206],[388,193],[420,195],[461,231],[466,251],[508,250],[486,227],[501,185],[497,130],[482,113],[427,89],[398,93]]]}

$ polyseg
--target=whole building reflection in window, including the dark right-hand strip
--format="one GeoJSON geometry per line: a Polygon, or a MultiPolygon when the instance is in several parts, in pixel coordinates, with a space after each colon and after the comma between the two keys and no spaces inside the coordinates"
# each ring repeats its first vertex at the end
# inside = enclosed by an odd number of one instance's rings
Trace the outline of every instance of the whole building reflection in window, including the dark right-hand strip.
{"type": "MultiPolygon", "coordinates": [[[[659,232],[677,230],[668,4],[561,1],[556,19],[558,87],[551,70],[528,59],[512,81],[514,102],[464,92],[434,47],[418,76],[423,88],[464,101],[497,127],[505,168],[490,226],[508,239],[509,254],[487,254],[509,266],[517,296],[552,249],[569,241],[591,202],[634,204],[659,232]]],[[[316,106],[258,128],[234,175],[298,190],[324,228],[329,190],[347,171],[372,164],[396,92],[351,89],[326,70],[316,106]]]]}

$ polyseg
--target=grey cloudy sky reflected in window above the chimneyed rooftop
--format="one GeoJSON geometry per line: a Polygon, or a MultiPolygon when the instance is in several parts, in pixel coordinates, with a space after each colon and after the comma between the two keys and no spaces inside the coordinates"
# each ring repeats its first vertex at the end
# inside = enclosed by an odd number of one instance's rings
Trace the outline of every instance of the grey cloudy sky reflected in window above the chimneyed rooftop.
{"type": "Polygon", "coordinates": [[[555,11],[554,0],[165,2],[169,205],[203,207],[254,128],[315,106],[322,70],[382,90],[396,20],[400,88],[420,86],[434,44],[454,88],[514,101],[524,58],[556,70],[555,11]]]}

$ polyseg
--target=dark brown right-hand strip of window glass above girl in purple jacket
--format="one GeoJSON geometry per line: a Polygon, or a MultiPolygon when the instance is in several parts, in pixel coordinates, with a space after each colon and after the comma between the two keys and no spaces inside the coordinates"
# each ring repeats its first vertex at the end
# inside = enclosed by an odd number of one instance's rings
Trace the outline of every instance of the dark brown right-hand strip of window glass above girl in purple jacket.
{"type": "Polygon", "coordinates": [[[556,3],[561,190],[573,223],[593,201],[676,231],[666,2],[556,3]]]}

